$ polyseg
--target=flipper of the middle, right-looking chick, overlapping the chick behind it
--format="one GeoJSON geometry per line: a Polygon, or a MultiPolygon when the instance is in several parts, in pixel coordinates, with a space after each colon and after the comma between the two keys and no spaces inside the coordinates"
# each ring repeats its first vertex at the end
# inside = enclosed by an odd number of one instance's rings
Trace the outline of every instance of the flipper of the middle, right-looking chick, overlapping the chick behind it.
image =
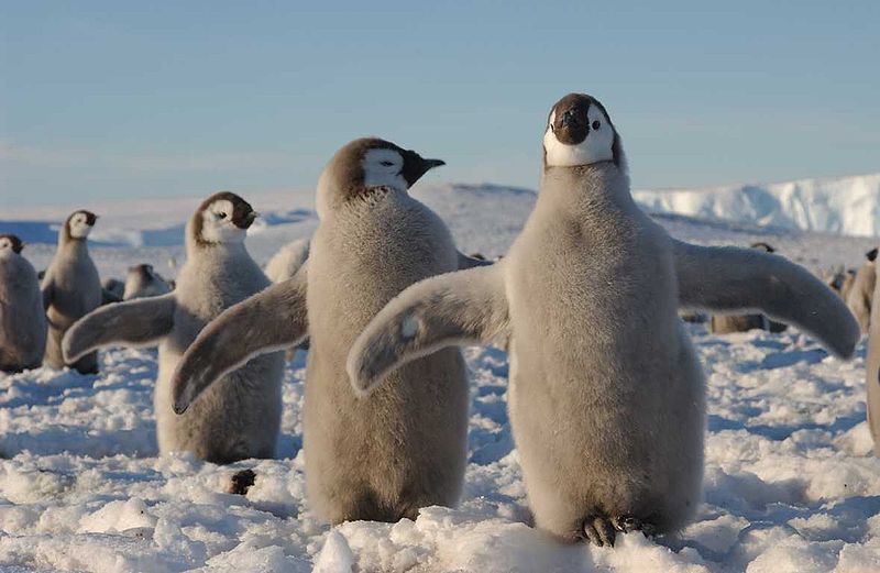
{"type": "Polygon", "coordinates": [[[286,350],[308,334],[306,266],[229,307],[202,329],[172,378],[175,412],[186,411],[211,384],[251,359],[286,350]]]}

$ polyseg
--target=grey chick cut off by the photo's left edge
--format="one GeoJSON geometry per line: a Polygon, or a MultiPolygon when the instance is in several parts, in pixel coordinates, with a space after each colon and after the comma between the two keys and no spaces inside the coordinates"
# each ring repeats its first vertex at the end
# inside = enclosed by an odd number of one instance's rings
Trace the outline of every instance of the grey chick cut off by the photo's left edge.
{"type": "Polygon", "coordinates": [[[0,234],[0,371],[21,372],[43,363],[46,315],[36,271],[22,256],[14,234],[0,234]]]}

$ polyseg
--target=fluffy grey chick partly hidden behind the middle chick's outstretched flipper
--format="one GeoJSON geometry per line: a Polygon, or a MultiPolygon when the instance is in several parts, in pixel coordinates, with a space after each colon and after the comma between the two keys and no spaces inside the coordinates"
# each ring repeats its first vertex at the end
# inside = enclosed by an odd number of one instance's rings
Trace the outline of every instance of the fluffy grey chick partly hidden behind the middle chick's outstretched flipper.
{"type": "Polygon", "coordinates": [[[68,360],[109,344],[148,346],[161,341],[154,406],[162,454],[187,451],[213,463],[275,456],[284,370],[278,352],[242,362],[184,416],[172,408],[172,374],[199,331],[224,309],[270,285],[244,246],[255,216],[238,195],[212,195],[189,220],[187,261],[173,293],[100,308],[64,339],[68,360]]]}

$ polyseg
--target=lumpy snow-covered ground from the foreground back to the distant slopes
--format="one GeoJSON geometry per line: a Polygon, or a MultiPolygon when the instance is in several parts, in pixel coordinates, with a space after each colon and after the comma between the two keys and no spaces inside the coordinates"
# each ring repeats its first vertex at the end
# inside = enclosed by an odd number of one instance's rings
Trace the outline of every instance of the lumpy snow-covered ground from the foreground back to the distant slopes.
{"type": "MultiPolygon", "coordinates": [[[[532,191],[493,186],[425,186],[415,195],[444,218],[462,251],[490,257],[504,254],[535,200],[532,191]]],[[[248,199],[264,213],[248,239],[260,262],[317,224],[309,192],[248,199]]],[[[113,229],[135,239],[182,229],[198,202],[103,206],[98,224],[108,234],[99,227],[95,236],[112,243],[113,229]]],[[[15,218],[59,220],[69,207],[15,218]]],[[[658,220],[703,244],[768,241],[815,269],[851,266],[872,242],[658,220]]],[[[183,261],[180,239],[96,244],[91,253],[102,277],[141,262],[162,272],[169,258],[183,261]]],[[[32,243],[24,254],[41,268],[53,251],[32,243]]],[[[506,412],[507,356],[498,350],[465,350],[472,399],[461,505],[425,508],[416,521],[331,529],[305,500],[302,351],[285,374],[279,459],[218,466],[186,454],[156,458],[155,351],[113,349],[101,353],[97,376],[0,374],[0,570],[880,571],[880,460],[865,421],[864,344],[842,362],[793,329],[716,337],[702,324],[688,328],[706,373],[710,416],[705,503],[679,538],[636,533],[597,549],[560,544],[525,525],[506,412]],[[257,474],[246,497],[224,493],[244,467],[257,474]]]]}

